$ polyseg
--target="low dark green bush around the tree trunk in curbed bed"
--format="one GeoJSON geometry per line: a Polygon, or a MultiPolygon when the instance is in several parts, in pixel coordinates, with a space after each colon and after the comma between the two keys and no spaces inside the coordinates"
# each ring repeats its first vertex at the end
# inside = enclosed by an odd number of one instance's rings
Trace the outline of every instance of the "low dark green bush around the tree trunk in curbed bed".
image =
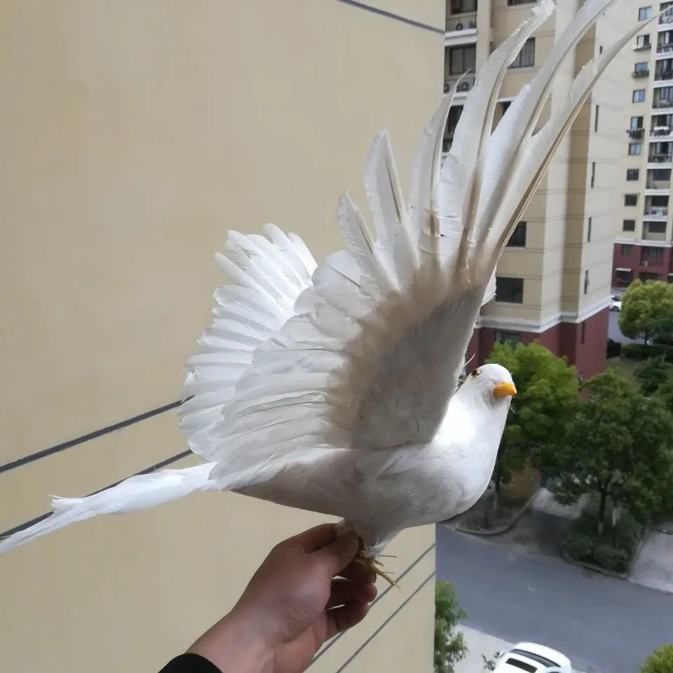
{"type": "Polygon", "coordinates": [[[566,530],[563,539],[564,552],[575,561],[590,563],[615,573],[625,573],[645,527],[627,510],[623,510],[613,545],[611,509],[608,506],[606,510],[604,532],[599,536],[598,498],[592,498],[580,517],[566,530]]]}

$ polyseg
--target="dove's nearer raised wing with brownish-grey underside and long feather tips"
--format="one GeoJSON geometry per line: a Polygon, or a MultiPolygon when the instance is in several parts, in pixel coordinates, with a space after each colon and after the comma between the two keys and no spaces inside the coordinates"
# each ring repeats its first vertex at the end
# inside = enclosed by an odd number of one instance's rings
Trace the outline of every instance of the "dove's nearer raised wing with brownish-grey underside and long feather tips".
{"type": "Polygon", "coordinates": [[[444,100],[416,152],[405,203],[390,141],[376,137],[365,187],[374,234],[347,195],[339,203],[346,250],[313,273],[294,315],[259,344],[252,366],[212,429],[212,472],[222,488],[266,481],[328,450],[430,441],[463,367],[480,306],[517,219],[559,142],[610,60],[638,27],[576,78],[533,135],[559,68],[615,0],[580,9],[533,82],[491,132],[508,64],[555,6],[543,0],[494,51],[465,102],[449,156],[444,100]]]}

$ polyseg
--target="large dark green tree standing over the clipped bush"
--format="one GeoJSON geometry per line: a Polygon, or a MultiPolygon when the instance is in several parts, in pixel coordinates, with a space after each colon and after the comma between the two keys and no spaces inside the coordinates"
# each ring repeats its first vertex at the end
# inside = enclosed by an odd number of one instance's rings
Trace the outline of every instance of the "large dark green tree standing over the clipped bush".
{"type": "Polygon", "coordinates": [[[565,504],[598,494],[601,533],[610,497],[641,521],[665,506],[673,478],[673,417],[614,369],[594,376],[586,389],[557,444],[561,479],[551,490],[565,504]]]}

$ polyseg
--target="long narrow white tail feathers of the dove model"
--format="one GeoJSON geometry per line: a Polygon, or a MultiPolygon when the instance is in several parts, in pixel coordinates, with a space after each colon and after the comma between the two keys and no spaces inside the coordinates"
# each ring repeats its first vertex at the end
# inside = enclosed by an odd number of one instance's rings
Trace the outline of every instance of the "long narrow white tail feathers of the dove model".
{"type": "Polygon", "coordinates": [[[0,540],[0,555],[47,533],[101,514],[138,512],[184,498],[194,491],[215,491],[217,485],[210,480],[212,467],[213,463],[201,463],[183,470],[160,470],[129,477],[86,498],[53,498],[53,513],[49,517],[0,540]]]}

